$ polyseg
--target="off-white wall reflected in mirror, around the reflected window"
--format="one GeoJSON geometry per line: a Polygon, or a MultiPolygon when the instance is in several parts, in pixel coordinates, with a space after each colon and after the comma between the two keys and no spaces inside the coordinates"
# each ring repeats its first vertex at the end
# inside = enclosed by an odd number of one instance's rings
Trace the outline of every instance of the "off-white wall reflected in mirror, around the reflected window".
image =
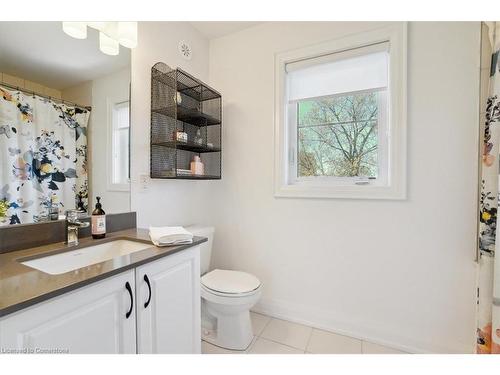
{"type": "Polygon", "coordinates": [[[117,191],[108,182],[111,175],[111,119],[109,103],[119,103],[129,99],[130,68],[119,70],[92,81],[91,112],[91,192],[90,209],[95,207],[95,197],[101,197],[106,213],[130,211],[130,192],[117,191]]]}

